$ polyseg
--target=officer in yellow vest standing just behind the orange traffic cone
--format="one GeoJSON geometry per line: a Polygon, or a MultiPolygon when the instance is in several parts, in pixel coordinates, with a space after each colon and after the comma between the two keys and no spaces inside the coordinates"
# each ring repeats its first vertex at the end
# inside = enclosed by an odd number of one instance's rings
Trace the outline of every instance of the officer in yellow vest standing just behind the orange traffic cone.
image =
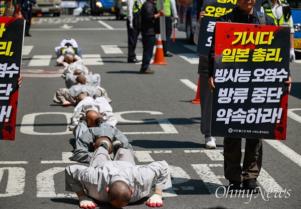
{"type": "MultiPolygon", "coordinates": [[[[163,51],[165,57],[172,57],[173,55],[168,51],[169,42],[173,32],[173,21],[176,25],[178,22],[178,13],[175,0],[163,0],[165,11],[165,32],[166,41],[162,41],[163,51]]],[[[157,9],[159,9],[159,1],[157,0],[157,9]]]]}

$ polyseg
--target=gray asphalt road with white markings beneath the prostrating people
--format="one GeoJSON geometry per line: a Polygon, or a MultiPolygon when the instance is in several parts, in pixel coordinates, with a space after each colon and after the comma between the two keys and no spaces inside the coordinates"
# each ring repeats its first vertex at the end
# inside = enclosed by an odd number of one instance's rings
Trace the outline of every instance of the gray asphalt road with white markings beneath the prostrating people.
{"type": "MultiPolygon", "coordinates": [[[[152,65],[154,75],[138,74],[139,64],[128,64],[125,21],[105,17],[36,18],[32,37],[25,37],[15,141],[0,141],[1,208],[78,208],[75,194],[65,191],[64,168],[74,143],[68,131],[73,107],[53,102],[65,82],[56,66],[54,47],[74,38],[82,47],[84,64],[101,75],[101,86],[113,100],[116,128],[125,133],[138,165],[166,160],[173,187],[164,193],[164,208],[299,208],[301,145],[301,60],[291,63],[293,80],[288,97],[287,140],[263,143],[263,165],[258,182],[262,195],[223,195],[223,140],[217,149],[204,148],[200,133],[200,105],[196,97],[198,57],[176,32],[168,65],[152,65]],[[108,50],[114,48],[113,51],[108,50]],[[215,194],[219,188],[218,195],[215,194]],[[268,190],[274,192],[267,196],[268,190]],[[281,195],[275,190],[282,190],[281,195]]],[[[139,37],[137,58],[141,58],[139,37]]],[[[300,57],[298,55],[298,57],[300,57]]],[[[147,197],[124,208],[146,208],[147,197]]],[[[99,208],[112,208],[99,204],[99,208]]]]}

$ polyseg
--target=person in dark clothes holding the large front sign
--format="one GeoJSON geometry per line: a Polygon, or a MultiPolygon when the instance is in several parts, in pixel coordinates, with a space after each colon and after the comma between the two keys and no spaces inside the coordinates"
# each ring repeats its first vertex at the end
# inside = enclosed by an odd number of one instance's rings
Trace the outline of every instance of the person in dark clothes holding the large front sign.
{"type": "MultiPolygon", "coordinates": [[[[256,0],[237,0],[238,7],[232,10],[229,18],[228,15],[221,16],[217,22],[233,22],[244,24],[260,25],[259,14],[254,8],[256,0]],[[227,21],[226,21],[227,20],[227,21]]],[[[266,20],[266,25],[274,26],[274,21],[266,14],[263,16],[266,20]]],[[[214,73],[214,53],[215,53],[215,31],[212,37],[211,48],[209,52],[209,80],[208,83],[213,91],[213,73],[214,73]]],[[[288,84],[288,93],[290,90],[291,78],[285,81],[288,84]]],[[[256,183],[262,165],[262,140],[261,139],[246,139],[245,153],[243,165],[241,166],[241,138],[224,138],[224,174],[229,180],[229,191],[241,190],[242,183],[245,190],[258,192],[259,187],[256,183]]]]}

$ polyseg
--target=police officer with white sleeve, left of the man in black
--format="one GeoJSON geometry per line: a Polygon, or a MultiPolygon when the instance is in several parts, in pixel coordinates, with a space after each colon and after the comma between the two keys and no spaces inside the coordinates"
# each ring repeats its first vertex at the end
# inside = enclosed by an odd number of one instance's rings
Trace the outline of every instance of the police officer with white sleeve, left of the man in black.
{"type": "Polygon", "coordinates": [[[139,36],[138,31],[133,28],[133,13],[138,12],[141,9],[145,0],[127,0],[127,10],[126,10],[126,27],[127,27],[127,48],[128,56],[127,63],[137,63],[140,60],[136,59],[135,48],[137,45],[137,39],[139,36]]]}

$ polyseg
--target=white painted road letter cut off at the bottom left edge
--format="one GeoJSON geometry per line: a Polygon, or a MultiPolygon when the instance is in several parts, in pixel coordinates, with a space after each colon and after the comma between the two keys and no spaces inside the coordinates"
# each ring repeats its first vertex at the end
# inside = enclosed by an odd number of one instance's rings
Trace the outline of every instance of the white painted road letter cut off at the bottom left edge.
{"type": "Polygon", "coordinates": [[[25,169],[19,167],[0,168],[0,182],[6,181],[3,177],[4,171],[8,170],[7,187],[0,197],[16,196],[23,194],[25,187],[25,169]]]}

